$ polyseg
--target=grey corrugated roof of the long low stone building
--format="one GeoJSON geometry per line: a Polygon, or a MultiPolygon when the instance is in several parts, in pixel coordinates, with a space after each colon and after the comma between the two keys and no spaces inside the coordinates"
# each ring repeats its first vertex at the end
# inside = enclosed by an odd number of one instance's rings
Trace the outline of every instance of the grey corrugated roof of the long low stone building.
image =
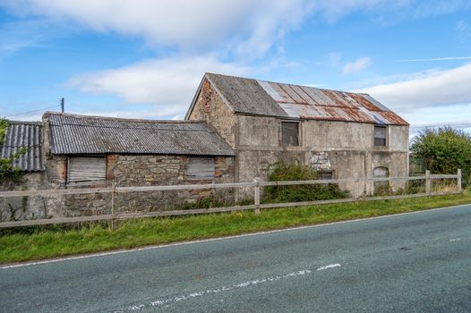
{"type": "Polygon", "coordinates": [[[47,113],[56,155],[156,154],[235,156],[205,123],[47,113]]]}

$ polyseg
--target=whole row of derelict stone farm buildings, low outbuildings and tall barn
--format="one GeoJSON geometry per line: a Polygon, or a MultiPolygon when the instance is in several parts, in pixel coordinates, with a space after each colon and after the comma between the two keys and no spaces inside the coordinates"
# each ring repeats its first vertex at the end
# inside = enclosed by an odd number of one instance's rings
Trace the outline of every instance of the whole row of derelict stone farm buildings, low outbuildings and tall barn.
{"type": "MultiPolygon", "coordinates": [[[[312,165],[324,179],[407,176],[407,145],[408,123],[369,95],[206,73],[184,121],[47,113],[12,123],[0,149],[28,149],[15,161],[25,181],[0,190],[252,182],[278,161],[312,165]]],[[[211,192],[119,193],[115,207],[163,210],[211,192]]],[[[110,202],[109,193],[0,199],[0,221],[105,214],[110,202]]]]}

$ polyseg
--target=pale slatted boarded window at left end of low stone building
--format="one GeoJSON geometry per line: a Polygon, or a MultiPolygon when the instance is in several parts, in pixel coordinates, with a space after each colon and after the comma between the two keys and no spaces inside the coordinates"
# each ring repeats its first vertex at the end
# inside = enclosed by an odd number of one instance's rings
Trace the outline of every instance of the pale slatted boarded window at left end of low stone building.
{"type": "Polygon", "coordinates": [[[105,157],[70,157],[69,182],[104,181],[107,179],[105,157]]]}

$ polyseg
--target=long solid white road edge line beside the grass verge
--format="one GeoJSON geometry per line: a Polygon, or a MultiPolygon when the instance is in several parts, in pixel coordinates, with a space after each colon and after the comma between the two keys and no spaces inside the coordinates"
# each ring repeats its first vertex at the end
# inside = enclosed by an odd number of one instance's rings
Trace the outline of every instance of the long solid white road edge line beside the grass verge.
{"type": "Polygon", "coordinates": [[[452,206],[452,207],[437,207],[437,208],[431,208],[431,209],[426,209],[426,210],[422,210],[422,211],[398,213],[398,214],[393,214],[393,215],[389,215],[389,216],[373,216],[373,217],[357,218],[357,219],[354,219],[354,220],[339,221],[339,222],[333,222],[333,223],[327,223],[327,224],[315,224],[315,225],[298,226],[298,227],[292,227],[292,228],[286,228],[286,229],[276,229],[276,230],[272,230],[272,231],[265,231],[265,232],[259,232],[259,233],[244,233],[244,234],[235,235],[235,236],[226,236],[226,237],[219,237],[219,238],[203,239],[203,240],[199,240],[199,241],[182,241],[182,242],[169,243],[169,244],[163,244],[163,245],[148,246],[148,247],[143,247],[143,248],[135,248],[135,249],[131,249],[131,250],[115,250],[115,251],[110,251],[110,252],[86,254],[86,255],[81,255],[81,256],[77,256],[77,257],[53,258],[53,259],[47,259],[47,260],[44,260],[44,261],[36,261],[36,262],[28,262],[28,263],[17,263],[17,264],[11,264],[11,265],[6,265],[6,266],[0,266],[0,269],[8,269],[8,268],[15,268],[15,267],[22,267],[22,266],[37,266],[37,265],[41,265],[41,264],[71,261],[71,260],[81,259],[81,258],[106,257],[106,256],[112,256],[112,255],[121,254],[121,253],[130,253],[130,252],[137,252],[137,251],[145,251],[145,250],[154,250],[154,249],[161,249],[161,248],[168,248],[168,247],[176,247],[176,246],[182,246],[182,245],[187,245],[187,244],[195,244],[195,243],[201,243],[201,242],[224,241],[224,240],[227,240],[227,239],[244,238],[244,237],[258,236],[258,235],[269,234],[269,233],[283,233],[283,232],[290,232],[290,231],[308,229],[308,228],[313,228],[313,227],[324,227],[324,226],[330,226],[330,225],[334,225],[334,224],[355,223],[355,222],[362,222],[362,221],[368,221],[368,220],[373,220],[373,219],[390,218],[390,217],[394,217],[394,216],[415,215],[415,214],[421,214],[421,213],[426,213],[426,212],[441,211],[441,210],[445,210],[445,209],[449,209],[449,208],[469,207],[469,206],[470,206],[469,204],[463,204],[463,205],[452,206]]]}

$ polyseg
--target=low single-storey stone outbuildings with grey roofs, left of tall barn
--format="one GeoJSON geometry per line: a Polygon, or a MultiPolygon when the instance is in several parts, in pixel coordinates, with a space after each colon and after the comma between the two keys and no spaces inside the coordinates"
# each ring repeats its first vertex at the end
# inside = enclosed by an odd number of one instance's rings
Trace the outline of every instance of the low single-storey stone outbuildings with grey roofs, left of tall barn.
{"type": "MultiPolygon", "coordinates": [[[[47,113],[42,125],[34,123],[34,127],[37,132],[23,131],[21,136],[16,131],[17,123],[7,130],[3,151],[12,146],[13,139],[17,141],[15,146],[28,147],[19,164],[25,171],[36,172],[25,172],[26,182],[4,184],[3,190],[234,181],[235,152],[206,123],[47,113]]],[[[4,157],[10,155],[5,151],[4,157]]],[[[117,194],[115,206],[126,211],[166,209],[179,201],[209,196],[210,192],[129,192],[117,194]]],[[[4,199],[1,217],[11,220],[104,214],[110,211],[109,198],[109,194],[96,193],[4,199]]]]}

